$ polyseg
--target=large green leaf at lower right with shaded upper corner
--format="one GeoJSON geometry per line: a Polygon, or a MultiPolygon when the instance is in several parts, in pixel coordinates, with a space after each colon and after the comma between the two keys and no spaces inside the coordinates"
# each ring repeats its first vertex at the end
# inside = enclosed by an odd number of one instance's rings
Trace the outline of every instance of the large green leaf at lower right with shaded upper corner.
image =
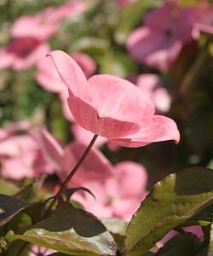
{"type": "Polygon", "coordinates": [[[155,184],[126,231],[128,256],[142,255],[176,228],[213,203],[213,170],[194,167],[155,184]]]}

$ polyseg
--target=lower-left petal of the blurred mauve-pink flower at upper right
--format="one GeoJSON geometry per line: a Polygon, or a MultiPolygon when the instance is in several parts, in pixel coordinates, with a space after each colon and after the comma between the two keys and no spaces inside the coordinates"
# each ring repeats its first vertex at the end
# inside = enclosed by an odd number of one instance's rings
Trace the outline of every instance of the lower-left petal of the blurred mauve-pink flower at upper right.
{"type": "Polygon", "coordinates": [[[178,38],[168,37],[161,31],[152,31],[148,26],[135,29],[126,45],[136,61],[164,71],[176,61],[182,48],[178,38]]]}

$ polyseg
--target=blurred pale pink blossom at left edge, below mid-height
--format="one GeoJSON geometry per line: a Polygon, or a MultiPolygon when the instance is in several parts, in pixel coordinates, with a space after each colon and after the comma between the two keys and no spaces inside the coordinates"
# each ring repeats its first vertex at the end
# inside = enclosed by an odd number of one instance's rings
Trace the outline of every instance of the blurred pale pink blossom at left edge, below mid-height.
{"type": "Polygon", "coordinates": [[[41,155],[39,146],[27,134],[14,135],[0,142],[1,175],[22,179],[40,173],[51,173],[41,155]]]}

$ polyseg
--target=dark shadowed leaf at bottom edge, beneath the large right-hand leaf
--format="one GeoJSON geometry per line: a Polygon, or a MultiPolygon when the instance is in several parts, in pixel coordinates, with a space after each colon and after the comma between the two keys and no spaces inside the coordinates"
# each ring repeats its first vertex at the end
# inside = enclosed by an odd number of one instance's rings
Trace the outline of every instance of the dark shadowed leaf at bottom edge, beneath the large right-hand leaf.
{"type": "Polygon", "coordinates": [[[198,236],[193,233],[186,235],[179,234],[172,237],[160,249],[157,256],[188,256],[193,255],[192,252],[196,250],[201,244],[198,236]]]}

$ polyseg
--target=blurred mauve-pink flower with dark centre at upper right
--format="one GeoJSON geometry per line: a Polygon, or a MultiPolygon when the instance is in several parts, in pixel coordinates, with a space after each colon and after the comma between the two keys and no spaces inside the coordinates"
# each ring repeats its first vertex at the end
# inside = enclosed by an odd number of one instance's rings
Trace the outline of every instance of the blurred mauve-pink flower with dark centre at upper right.
{"type": "Polygon", "coordinates": [[[195,9],[154,9],[144,17],[144,26],[130,33],[126,47],[130,55],[141,63],[167,71],[190,43],[195,9]]]}

